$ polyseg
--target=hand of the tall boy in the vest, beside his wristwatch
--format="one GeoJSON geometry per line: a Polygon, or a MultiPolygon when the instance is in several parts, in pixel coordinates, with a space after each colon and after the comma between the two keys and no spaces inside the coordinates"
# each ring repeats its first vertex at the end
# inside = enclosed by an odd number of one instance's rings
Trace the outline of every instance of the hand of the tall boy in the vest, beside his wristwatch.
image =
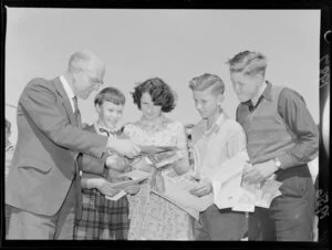
{"type": "Polygon", "coordinates": [[[243,181],[250,184],[260,184],[277,171],[274,160],[268,160],[252,166],[247,166],[243,171],[243,181]]]}

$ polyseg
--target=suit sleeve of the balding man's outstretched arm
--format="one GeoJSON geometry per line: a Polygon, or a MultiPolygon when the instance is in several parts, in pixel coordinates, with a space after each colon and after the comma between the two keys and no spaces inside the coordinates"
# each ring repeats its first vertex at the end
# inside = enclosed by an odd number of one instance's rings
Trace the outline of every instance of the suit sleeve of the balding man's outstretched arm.
{"type": "Polygon", "coordinates": [[[27,118],[49,137],[54,144],[73,152],[89,154],[102,158],[106,149],[107,137],[84,132],[70,124],[61,110],[59,97],[48,81],[32,80],[23,91],[19,105],[27,118]]]}

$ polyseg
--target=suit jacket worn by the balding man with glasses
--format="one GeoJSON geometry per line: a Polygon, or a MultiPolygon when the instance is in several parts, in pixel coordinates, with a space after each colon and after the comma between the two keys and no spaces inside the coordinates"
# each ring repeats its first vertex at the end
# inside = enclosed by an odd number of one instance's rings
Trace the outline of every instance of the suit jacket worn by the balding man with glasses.
{"type": "MultiPolygon", "coordinates": [[[[33,79],[17,111],[18,143],[6,183],[6,204],[55,215],[77,175],[79,153],[102,158],[107,137],[80,129],[59,77],[33,79]]],[[[96,173],[103,173],[100,165],[96,173]]]]}

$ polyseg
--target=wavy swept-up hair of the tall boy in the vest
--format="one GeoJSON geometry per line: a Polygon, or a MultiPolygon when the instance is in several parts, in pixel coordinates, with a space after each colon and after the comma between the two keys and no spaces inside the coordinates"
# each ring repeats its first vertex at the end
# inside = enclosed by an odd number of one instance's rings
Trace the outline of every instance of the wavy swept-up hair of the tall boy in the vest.
{"type": "Polygon", "coordinates": [[[261,73],[264,76],[268,66],[267,56],[252,51],[242,51],[229,59],[227,63],[231,73],[245,72],[247,75],[261,73]]]}

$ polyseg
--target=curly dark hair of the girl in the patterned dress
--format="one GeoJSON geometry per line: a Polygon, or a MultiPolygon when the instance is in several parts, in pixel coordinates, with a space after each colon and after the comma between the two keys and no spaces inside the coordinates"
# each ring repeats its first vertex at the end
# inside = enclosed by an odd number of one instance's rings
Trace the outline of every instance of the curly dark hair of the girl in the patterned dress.
{"type": "Polygon", "coordinates": [[[148,93],[156,106],[162,106],[162,112],[170,112],[174,110],[175,95],[172,88],[158,77],[148,79],[139,83],[132,92],[134,103],[141,110],[141,98],[144,93],[148,93]]]}

